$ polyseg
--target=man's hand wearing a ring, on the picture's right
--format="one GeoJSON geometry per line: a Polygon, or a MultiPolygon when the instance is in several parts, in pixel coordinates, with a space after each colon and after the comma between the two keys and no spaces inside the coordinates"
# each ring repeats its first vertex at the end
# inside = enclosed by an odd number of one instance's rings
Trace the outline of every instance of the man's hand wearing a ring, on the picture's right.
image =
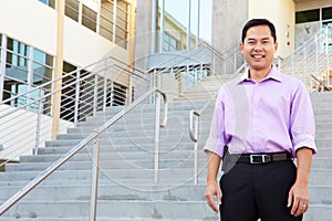
{"type": "Polygon", "coordinates": [[[291,214],[298,217],[308,211],[309,190],[307,185],[294,183],[289,191],[288,206],[291,207],[291,214]]]}

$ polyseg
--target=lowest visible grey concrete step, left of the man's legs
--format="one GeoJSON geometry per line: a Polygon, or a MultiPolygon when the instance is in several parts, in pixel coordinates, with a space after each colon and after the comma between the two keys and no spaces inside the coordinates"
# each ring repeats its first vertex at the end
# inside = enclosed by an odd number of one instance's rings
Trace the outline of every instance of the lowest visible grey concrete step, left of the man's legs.
{"type": "MultiPolygon", "coordinates": [[[[74,217],[87,219],[90,201],[22,201],[9,210],[4,215],[19,217],[20,219],[48,219],[52,217],[74,217]],[[50,208],[53,208],[50,210],[50,208]]],[[[126,218],[154,218],[154,219],[197,219],[217,220],[218,214],[212,212],[205,201],[113,201],[100,200],[97,217],[121,219],[126,218]],[[128,214],[129,211],[129,214],[128,214]],[[186,211],[186,212],[175,212],[186,211]]],[[[2,215],[3,217],[3,215],[2,215]]]]}

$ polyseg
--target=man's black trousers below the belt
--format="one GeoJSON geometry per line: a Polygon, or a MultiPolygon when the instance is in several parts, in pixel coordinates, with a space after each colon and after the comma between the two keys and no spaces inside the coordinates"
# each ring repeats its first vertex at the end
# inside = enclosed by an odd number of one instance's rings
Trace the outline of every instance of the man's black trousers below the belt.
{"type": "Polygon", "coordinates": [[[221,221],[299,221],[287,208],[297,168],[292,160],[236,164],[220,179],[221,221]]]}

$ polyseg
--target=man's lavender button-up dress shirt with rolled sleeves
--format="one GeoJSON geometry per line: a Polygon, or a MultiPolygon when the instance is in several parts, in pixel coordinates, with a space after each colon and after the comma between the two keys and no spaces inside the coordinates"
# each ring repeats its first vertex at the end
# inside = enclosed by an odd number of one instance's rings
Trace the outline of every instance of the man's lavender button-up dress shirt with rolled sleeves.
{"type": "Polygon", "coordinates": [[[242,76],[225,83],[218,92],[205,151],[222,157],[312,148],[314,116],[308,91],[301,81],[272,67],[266,78],[255,82],[242,76]]]}

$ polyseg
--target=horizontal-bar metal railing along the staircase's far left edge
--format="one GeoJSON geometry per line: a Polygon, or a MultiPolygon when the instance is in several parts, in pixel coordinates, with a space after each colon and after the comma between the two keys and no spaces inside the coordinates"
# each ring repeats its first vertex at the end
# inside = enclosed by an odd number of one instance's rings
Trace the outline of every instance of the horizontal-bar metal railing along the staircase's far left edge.
{"type": "MultiPolygon", "coordinates": [[[[42,144],[43,141],[45,141],[46,136],[49,136],[49,133],[51,133],[49,127],[44,127],[41,130],[41,127],[43,127],[43,125],[41,124],[43,122],[43,120],[41,120],[41,117],[45,117],[45,116],[51,117],[51,115],[50,115],[51,106],[52,106],[51,97],[53,96],[54,93],[65,90],[66,91],[65,93],[72,93],[75,96],[74,98],[71,98],[71,97],[68,97],[68,94],[62,94],[63,102],[65,101],[65,102],[73,104],[72,106],[74,107],[74,116],[71,117],[70,112],[66,108],[63,108],[61,112],[61,114],[63,113],[62,118],[64,119],[64,122],[73,122],[74,125],[76,125],[76,123],[79,122],[79,115],[77,115],[79,112],[80,112],[80,118],[84,119],[86,116],[94,114],[97,110],[96,107],[98,107],[98,108],[101,108],[101,106],[105,107],[106,106],[106,96],[108,96],[106,94],[107,92],[105,90],[107,88],[106,82],[108,80],[103,75],[103,73],[108,70],[121,70],[121,72],[129,73],[131,75],[128,75],[128,77],[135,77],[142,82],[147,82],[145,72],[143,72],[142,70],[131,66],[131,65],[124,63],[123,61],[120,61],[113,56],[106,56],[106,57],[103,57],[102,60],[94,62],[92,64],[89,64],[84,67],[80,67],[80,69],[69,72],[69,73],[63,73],[62,76],[56,77],[52,81],[45,82],[40,85],[32,86],[27,92],[13,95],[10,98],[1,101],[0,105],[3,104],[3,108],[1,108],[1,110],[0,110],[0,119],[1,119],[1,124],[9,125],[9,126],[7,126],[7,129],[9,129],[9,127],[10,128],[15,127],[14,123],[11,123],[12,118],[13,118],[11,116],[13,116],[13,114],[19,113],[20,110],[25,110],[25,109],[29,110],[29,108],[31,106],[38,106],[39,108],[37,109],[38,110],[37,119],[35,119],[35,116],[24,118],[24,123],[22,123],[24,125],[23,125],[23,127],[20,127],[20,129],[23,129],[25,126],[30,127],[30,129],[28,129],[27,133],[24,131],[24,133],[20,134],[20,141],[21,141],[20,144],[22,144],[22,148],[21,147],[18,148],[17,145],[13,145],[10,143],[10,139],[7,139],[7,138],[4,138],[6,136],[1,135],[0,138],[1,139],[3,138],[4,143],[8,143],[9,145],[7,146],[6,151],[3,151],[6,154],[3,154],[3,152],[0,154],[0,156],[3,157],[3,159],[4,159],[0,164],[0,166],[19,157],[21,154],[27,152],[30,148],[34,148],[32,151],[34,155],[38,154],[39,145],[42,144]],[[87,69],[90,69],[92,71],[86,71],[87,69]],[[77,75],[77,77],[76,77],[76,75],[77,75]],[[82,77],[80,77],[80,75],[82,75],[82,77]],[[70,81],[68,81],[66,77],[70,78],[70,81]],[[104,91],[103,101],[97,101],[96,96],[98,96],[98,95],[96,93],[98,93],[98,91],[95,90],[95,87],[102,87],[102,82],[101,82],[101,84],[96,84],[96,81],[91,82],[91,80],[93,80],[93,78],[96,80],[97,77],[105,82],[105,84],[103,85],[103,88],[102,88],[104,91]],[[61,81],[61,80],[64,80],[68,82],[65,82],[61,86],[61,88],[52,90],[52,84],[54,82],[61,81]],[[85,103],[84,98],[81,99],[82,95],[80,94],[80,85],[83,83],[85,84],[85,86],[84,86],[85,91],[90,90],[90,92],[94,93],[94,94],[91,93],[91,96],[94,96],[94,102],[93,102],[92,106],[90,103],[85,103]],[[42,94],[40,93],[41,91],[43,92],[42,94]],[[38,93],[39,96],[31,98],[30,94],[32,94],[32,93],[38,93]],[[7,105],[7,104],[12,103],[12,101],[15,103],[15,101],[20,99],[20,98],[23,98],[24,103],[20,104],[18,107],[10,108],[10,106],[7,105]],[[92,112],[92,109],[89,109],[89,108],[93,108],[93,112],[92,112]],[[37,122],[37,126],[34,126],[34,128],[31,129],[34,122],[37,122]],[[30,139],[31,131],[33,131],[33,130],[37,131],[35,133],[37,136],[34,139],[34,141],[35,141],[34,147],[32,147],[31,145],[29,146],[29,145],[24,144],[24,143],[27,143],[28,139],[30,139]],[[44,139],[41,140],[40,139],[41,136],[43,136],[44,139]]],[[[144,84],[146,84],[146,83],[144,83],[144,84]]],[[[111,93],[110,96],[114,96],[114,91],[112,91],[112,92],[110,91],[110,93],[111,93]]],[[[131,94],[131,93],[127,93],[127,94],[131,94]]],[[[116,98],[114,98],[113,101],[115,101],[115,99],[116,98]]],[[[128,98],[127,101],[132,101],[132,98],[128,98]]],[[[107,103],[110,103],[110,102],[107,102],[107,103]]],[[[62,118],[61,118],[61,120],[62,120],[62,118]]]]}

